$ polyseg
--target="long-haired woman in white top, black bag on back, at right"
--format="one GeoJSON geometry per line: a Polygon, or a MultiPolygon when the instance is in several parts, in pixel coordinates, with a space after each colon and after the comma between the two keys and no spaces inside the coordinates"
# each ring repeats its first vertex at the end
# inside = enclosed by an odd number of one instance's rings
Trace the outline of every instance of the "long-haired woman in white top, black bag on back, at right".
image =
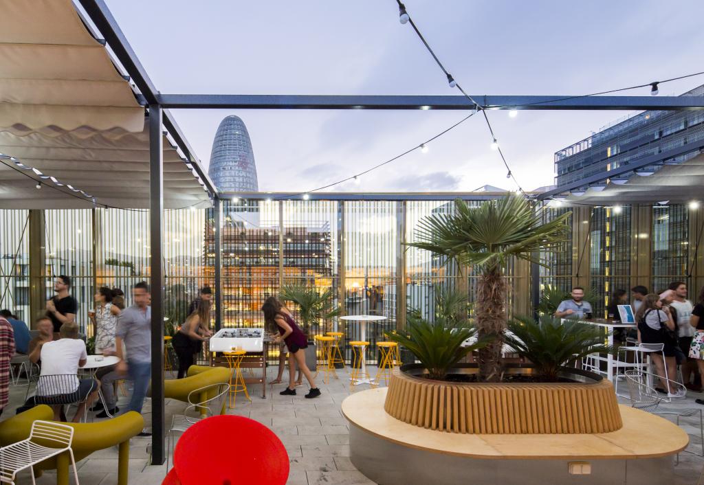
{"type": "Polygon", "coordinates": [[[670,336],[670,332],[675,329],[674,321],[670,315],[670,308],[662,306],[660,296],[651,293],[643,299],[643,304],[636,312],[636,322],[638,322],[639,341],[643,344],[664,344],[662,352],[665,354],[665,362],[662,361],[662,354],[651,352],[650,358],[655,364],[655,372],[660,376],[660,382],[664,389],[661,392],[674,395],[668,379],[674,381],[677,377],[677,362],[675,361],[676,341],[670,336]],[[667,379],[665,378],[665,367],[667,367],[667,379]]]}

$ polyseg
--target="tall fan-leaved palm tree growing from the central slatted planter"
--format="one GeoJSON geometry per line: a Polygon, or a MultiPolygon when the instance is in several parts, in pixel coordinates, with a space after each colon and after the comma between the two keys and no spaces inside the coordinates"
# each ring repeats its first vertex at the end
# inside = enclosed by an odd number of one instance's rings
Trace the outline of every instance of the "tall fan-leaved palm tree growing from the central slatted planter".
{"type": "Polygon", "coordinates": [[[470,208],[455,199],[455,213],[438,213],[420,221],[417,242],[408,246],[426,249],[479,270],[474,321],[479,339],[491,339],[479,349],[479,379],[501,380],[501,348],[506,328],[506,281],[503,270],[511,258],[539,263],[536,254],[565,241],[568,214],[543,223],[545,208],[534,208],[513,194],[470,208]]]}

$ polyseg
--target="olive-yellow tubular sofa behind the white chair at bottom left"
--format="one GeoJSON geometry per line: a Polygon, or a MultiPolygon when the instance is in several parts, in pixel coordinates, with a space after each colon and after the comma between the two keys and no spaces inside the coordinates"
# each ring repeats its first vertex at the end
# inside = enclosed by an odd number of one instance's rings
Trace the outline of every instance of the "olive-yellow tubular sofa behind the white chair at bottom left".
{"type": "MultiPolygon", "coordinates": [[[[30,436],[32,423],[36,420],[51,421],[54,411],[47,405],[37,405],[30,410],[0,422],[0,446],[22,441],[30,436]]],[[[129,474],[127,465],[130,459],[130,438],[142,432],[144,418],[139,412],[125,412],[111,420],[94,423],[66,423],[73,427],[71,449],[75,460],[86,458],[94,451],[119,446],[118,485],[127,485],[129,474]]],[[[47,446],[50,446],[49,444],[47,446]]],[[[56,485],[68,485],[70,458],[64,453],[56,458],[45,460],[34,470],[55,470],[56,485]]]]}

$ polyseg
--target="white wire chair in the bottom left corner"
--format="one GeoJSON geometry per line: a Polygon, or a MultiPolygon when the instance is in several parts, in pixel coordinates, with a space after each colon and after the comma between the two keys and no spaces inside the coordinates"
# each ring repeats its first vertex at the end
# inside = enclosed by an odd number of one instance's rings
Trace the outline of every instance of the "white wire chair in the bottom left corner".
{"type": "Polygon", "coordinates": [[[73,476],[78,485],[78,472],[76,471],[76,461],[73,458],[71,442],[73,441],[73,428],[68,424],[61,424],[53,421],[34,421],[30,437],[0,448],[0,482],[15,485],[15,477],[18,472],[30,469],[32,473],[32,484],[34,481],[34,465],[43,462],[47,458],[61,455],[68,452],[71,457],[73,476]],[[42,444],[37,443],[40,441],[42,444]],[[58,445],[58,447],[45,446],[48,443],[58,445]]]}

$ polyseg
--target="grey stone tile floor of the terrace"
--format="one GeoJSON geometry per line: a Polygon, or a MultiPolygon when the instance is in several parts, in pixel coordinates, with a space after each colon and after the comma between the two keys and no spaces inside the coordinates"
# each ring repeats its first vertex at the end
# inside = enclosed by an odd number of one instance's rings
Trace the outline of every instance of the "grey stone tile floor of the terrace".
{"type": "MultiPolygon", "coordinates": [[[[270,367],[270,376],[275,367],[270,367]]],[[[291,461],[289,484],[292,485],[357,485],[370,484],[363,474],[358,472],[349,460],[348,424],[340,412],[340,404],[350,393],[348,375],[339,371],[340,379],[331,379],[329,384],[319,383],[322,396],[308,400],[303,394],[307,386],[298,388],[297,396],[279,396],[284,384],[273,388],[268,386],[267,398],[262,399],[257,394],[258,389],[252,389],[252,402],[247,402],[241,395],[232,414],[243,415],[257,420],[270,427],[286,446],[291,461]]],[[[375,374],[375,369],[370,368],[375,374]]],[[[286,374],[287,375],[287,374],[286,374]]],[[[369,386],[358,386],[353,392],[369,389],[369,386]]],[[[25,387],[12,389],[11,403],[4,417],[14,414],[14,408],[20,405],[25,396],[25,387]]],[[[704,394],[692,394],[679,403],[668,407],[703,408],[694,403],[694,398],[704,398],[704,394]]],[[[121,397],[122,402],[126,401],[121,397]]],[[[179,401],[167,402],[167,422],[174,412],[182,412],[184,404],[179,401]]],[[[149,403],[145,406],[145,419],[149,423],[149,403]]],[[[698,417],[684,418],[682,425],[690,434],[689,449],[701,453],[698,417]]],[[[165,475],[165,466],[146,465],[149,458],[147,446],[151,439],[134,438],[130,447],[130,485],[161,484],[165,475]],[[144,470],[143,470],[144,469],[144,470]]],[[[109,448],[90,455],[78,464],[81,485],[111,485],[117,483],[117,448],[109,448]]],[[[679,465],[675,467],[672,482],[668,485],[695,485],[704,465],[704,459],[690,453],[681,453],[679,465]]],[[[18,484],[30,484],[28,475],[18,481],[18,484]]],[[[37,484],[55,484],[56,475],[45,472],[37,480],[37,484]]],[[[73,481],[72,481],[73,483],[73,481]]]]}

